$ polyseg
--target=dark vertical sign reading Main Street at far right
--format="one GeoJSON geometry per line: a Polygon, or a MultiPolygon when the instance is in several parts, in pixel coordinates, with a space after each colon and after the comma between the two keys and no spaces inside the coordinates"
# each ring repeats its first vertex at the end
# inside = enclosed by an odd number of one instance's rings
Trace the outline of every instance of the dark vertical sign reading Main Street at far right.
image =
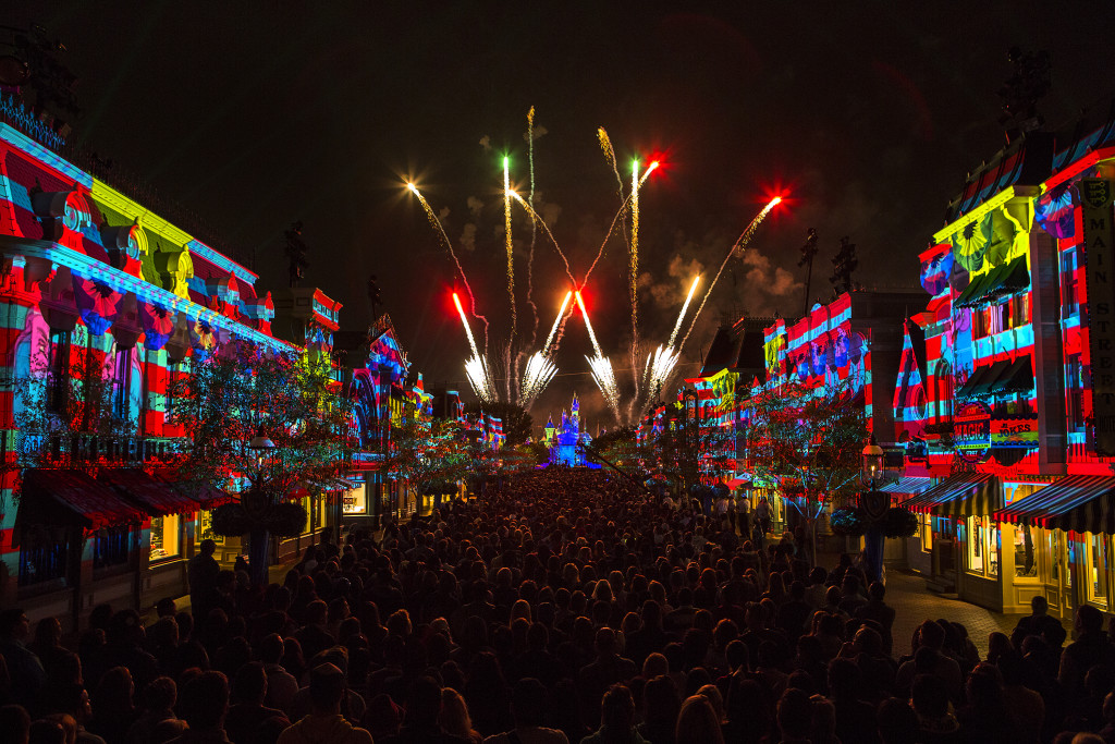
{"type": "Polygon", "coordinates": [[[1088,350],[1092,352],[1092,407],[1096,454],[1115,455],[1115,225],[1113,184],[1082,178],[1085,278],[1088,292],[1088,350]]]}

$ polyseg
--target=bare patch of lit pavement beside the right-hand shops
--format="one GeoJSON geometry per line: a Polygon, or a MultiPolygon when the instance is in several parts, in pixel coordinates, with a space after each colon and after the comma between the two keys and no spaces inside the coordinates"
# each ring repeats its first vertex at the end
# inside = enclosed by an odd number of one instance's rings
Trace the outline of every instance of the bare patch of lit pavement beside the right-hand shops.
{"type": "Polygon", "coordinates": [[[946,619],[968,629],[968,637],[979,649],[980,658],[987,657],[987,638],[992,632],[1008,636],[1024,615],[993,612],[956,596],[938,595],[925,588],[925,579],[903,571],[886,572],[886,603],[894,608],[894,657],[910,653],[914,628],[925,620],[946,619]]]}

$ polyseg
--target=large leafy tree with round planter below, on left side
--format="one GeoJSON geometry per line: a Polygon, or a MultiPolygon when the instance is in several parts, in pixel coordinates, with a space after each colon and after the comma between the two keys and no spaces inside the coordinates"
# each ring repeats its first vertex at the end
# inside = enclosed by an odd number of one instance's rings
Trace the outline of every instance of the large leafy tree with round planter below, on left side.
{"type": "Polygon", "coordinates": [[[230,489],[234,504],[219,508],[219,534],[250,534],[250,567],[266,582],[271,534],[300,534],[306,510],[288,499],[343,486],[356,450],[351,404],[332,379],[330,363],[272,352],[241,340],[207,358],[171,386],[171,423],[188,446],[177,462],[181,484],[194,492],[230,489]],[[262,435],[273,447],[252,447],[262,435]]]}

